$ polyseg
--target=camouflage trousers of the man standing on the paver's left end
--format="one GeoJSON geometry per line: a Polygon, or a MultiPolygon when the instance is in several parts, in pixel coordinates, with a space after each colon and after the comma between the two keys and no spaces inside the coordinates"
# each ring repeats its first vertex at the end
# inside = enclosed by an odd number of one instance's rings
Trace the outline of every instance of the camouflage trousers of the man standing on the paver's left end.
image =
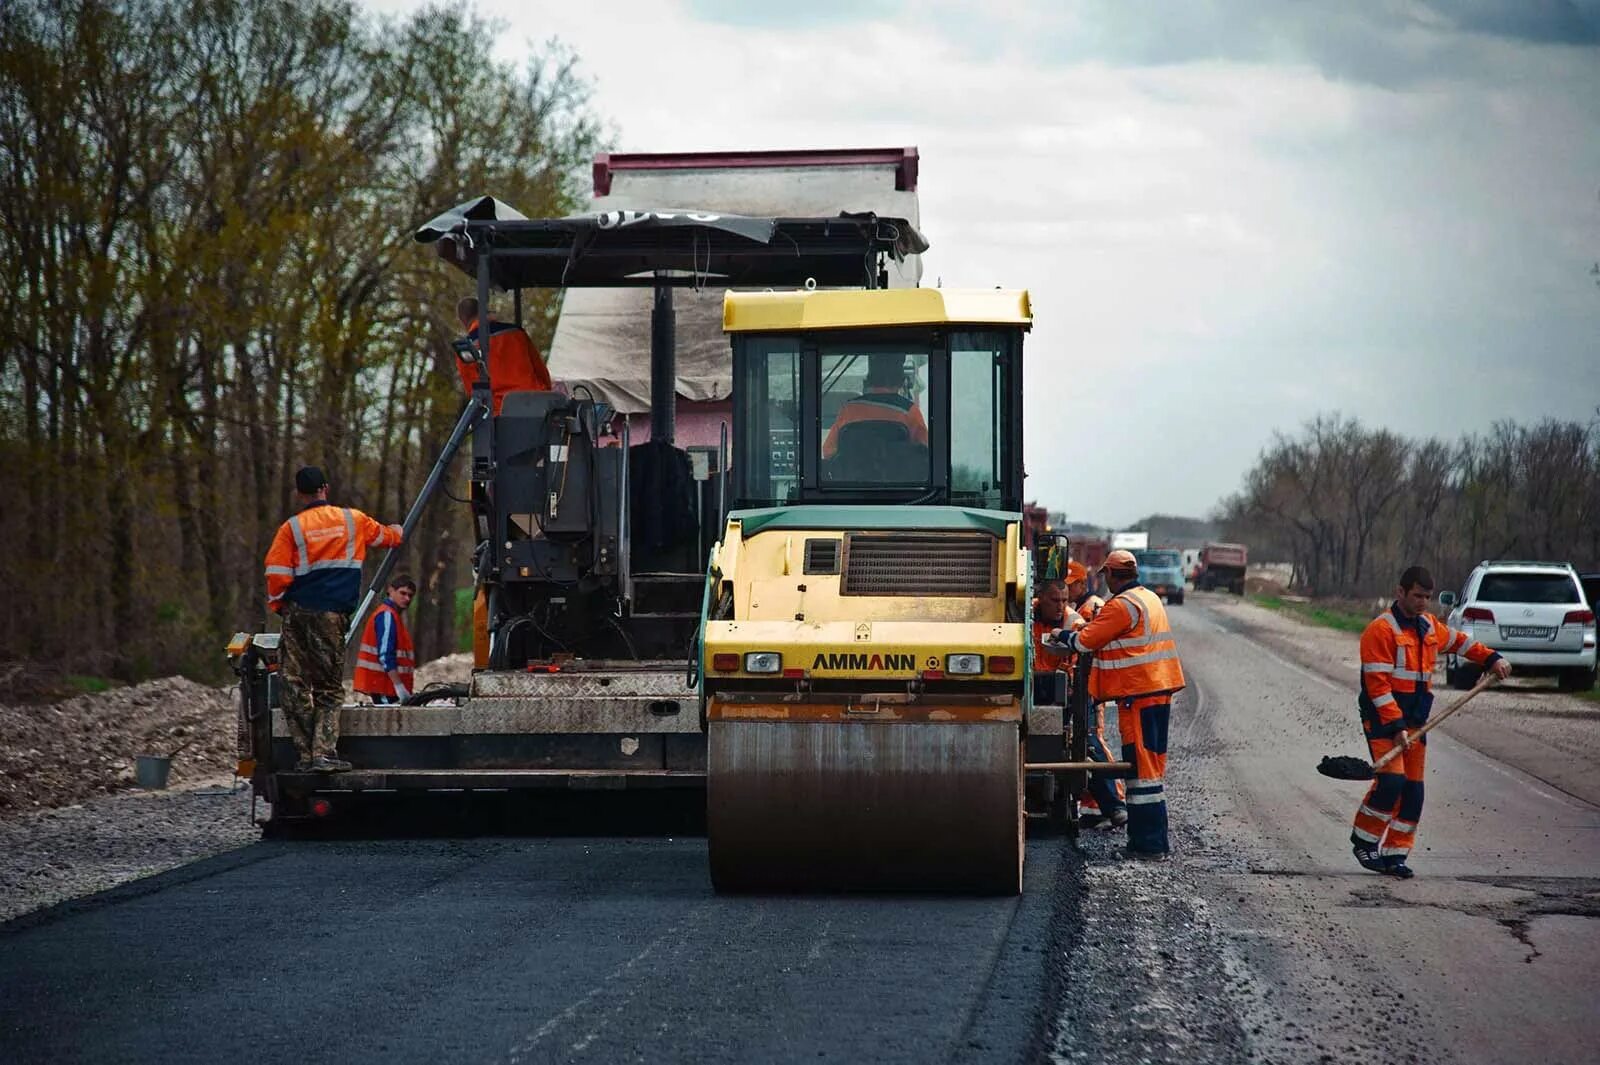
{"type": "Polygon", "coordinates": [[[349,614],[283,606],[283,720],[301,761],[333,758],[344,704],[344,630],[349,614]]]}

